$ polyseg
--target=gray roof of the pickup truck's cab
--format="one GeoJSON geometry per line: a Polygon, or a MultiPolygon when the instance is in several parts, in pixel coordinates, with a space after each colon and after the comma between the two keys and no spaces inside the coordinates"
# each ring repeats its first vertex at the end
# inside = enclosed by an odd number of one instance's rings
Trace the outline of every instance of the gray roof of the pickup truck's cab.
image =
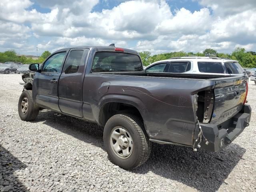
{"type": "MultiPolygon", "coordinates": [[[[95,51],[118,51],[115,49],[119,48],[119,47],[115,47],[115,46],[76,46],[76,47],[62,48],[60,50],[79,49],[79,48],[90,49],[90,50],[95,50],[95,51]]],[[[126,48],[121,48],[121,49],[123,49],[124,51],[122,51],[122,52],[125,52],[125,53],[138,54],[137,51],[134,51],[131,49],[126,49],[126,48]]],[[[60,50],[57,50],[57,51],[60,51],[60,50]]]]}

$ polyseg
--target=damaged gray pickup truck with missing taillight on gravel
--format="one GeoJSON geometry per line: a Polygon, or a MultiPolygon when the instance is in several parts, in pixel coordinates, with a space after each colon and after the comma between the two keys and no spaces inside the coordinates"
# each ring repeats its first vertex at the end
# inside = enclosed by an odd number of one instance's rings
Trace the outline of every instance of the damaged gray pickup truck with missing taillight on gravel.
{"type": "Polygon", "coordinates": [[[124,169],[146,162],[151,142],[216,152],[250,122],[244,75],[143,72],[138,52],[114,46],[58,50],[30,70],[20,118],[50,109],[96,122],[110,160],[124,169]]]}

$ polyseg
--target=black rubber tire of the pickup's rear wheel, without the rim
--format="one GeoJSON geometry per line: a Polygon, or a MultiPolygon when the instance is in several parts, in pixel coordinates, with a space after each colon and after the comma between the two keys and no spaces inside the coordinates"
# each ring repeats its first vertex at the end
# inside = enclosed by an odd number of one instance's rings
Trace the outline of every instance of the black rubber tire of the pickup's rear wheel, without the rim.
{"type": "Polygon", "coordinates": [[[117,114],[112,116],[104,127],[104,145],[110,160],[117,166],[129,170],[144,164],[151,151],[151,143],[144,129],[142,120],[131,114],[117,114]],[[116,127],[125,128],[132,137],[133,150],[128,158],[120,158],[111,147],[111,133],[116,127]]]}

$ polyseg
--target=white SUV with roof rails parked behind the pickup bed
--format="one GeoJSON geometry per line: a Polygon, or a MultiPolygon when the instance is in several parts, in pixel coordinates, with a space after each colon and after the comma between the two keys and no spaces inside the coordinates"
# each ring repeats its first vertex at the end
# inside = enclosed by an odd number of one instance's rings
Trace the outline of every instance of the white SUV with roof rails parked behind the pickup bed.
{"type": "Polygon", "coordinates": [[[154,62],[144,71],[158,73],[186,74],[243,74],[238,61],[218,57],[174,57],[154,62]]]}

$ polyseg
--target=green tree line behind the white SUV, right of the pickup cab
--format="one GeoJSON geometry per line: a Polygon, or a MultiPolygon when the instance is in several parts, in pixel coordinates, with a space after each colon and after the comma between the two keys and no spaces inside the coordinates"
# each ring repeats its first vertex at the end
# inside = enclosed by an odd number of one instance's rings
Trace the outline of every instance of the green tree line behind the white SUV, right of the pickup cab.
{"type": "Polygon", "coordinates": [[[156,61],[170,59],[172,57],[185,57],[185,56],[216,56],[220,58],[228,58],[232,60],[238,60],[240,65],[243,68],[256,68],[256,52],[246,52],[244,48],[236,48],[231,54],[218,53],[216,50],[208,48],[204,50],[202,53],[197,52],[170,52],[170,53],[162,53],[151,56],[151,53],[148,51],[140,52],[140,57],[142,59],[142,63],[144,66],[148,66],[156,61]]]}

